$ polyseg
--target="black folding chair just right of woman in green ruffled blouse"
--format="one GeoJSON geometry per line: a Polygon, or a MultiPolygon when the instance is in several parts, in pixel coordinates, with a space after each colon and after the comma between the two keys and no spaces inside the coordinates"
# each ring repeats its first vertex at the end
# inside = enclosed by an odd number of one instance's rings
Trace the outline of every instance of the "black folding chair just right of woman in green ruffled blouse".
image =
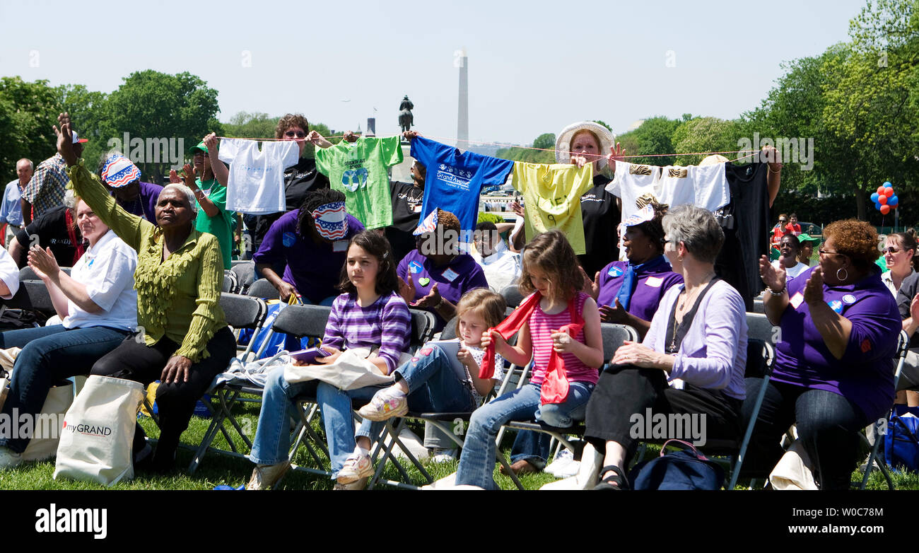
{"type": "MultiPolygon", "coordinates": [[[[238,294],[221,294],[221,308],[223,313],[226,316],[227,324],[233,327],[234,331],[238,331],[244,328],[252,329],[255,333],[262,326],[262,322],[265,321],[265,315],[267,313],[267,305],[265,301],[258,298],[251,298],[249,296],[241,296],[238,294]]],[[[250,342],[247,345],[243,353],[240,354],[237,349],[237,358],[245,359],[249,351],[252,349],[252,343],[250,342]]],[[[208,449],[210,448],[211,442],[217,436],[217,432],[220,431],[223,434],[223,437],[226,438],[227,443],[230,445],[231,452],[237,454],[239,457],[242,457],[237,451],[236,446],[233,444],[233,440],[230,439],[230,434],[227,433],[226,429],[223,426],[224,421],[229,421],[233,428],[236,430],[236,433],[239,434],[247,446],[252,447],[251,442],[248,441],[248,437],[243,432],[243,429],[240,423],[233,416],[231,412],[231,407],[233,402],[242,401],[239,398],[239,395],[244,392],[257,393],[261,395],[261,390],[246,389],[246,387],[230,387],[230,386],[217,386],[209,390],[211,400],[204,401],[204,404],[210,410],[212,415],[210,420],[210,425],[208,430],[204,433],[204,437],[201,438],[201,443],[198,446],[195,455],[191,459],[191,464],[188,465],[188,472],[193,473],[201,463],[201,459],[204,458],[207,454],[208,449]]],[[[146,401],[146,400],[144,400],[146,401]]],[[[153,412],[153,409],[150,406],[147,406],[150,412],[153,412]]]]}

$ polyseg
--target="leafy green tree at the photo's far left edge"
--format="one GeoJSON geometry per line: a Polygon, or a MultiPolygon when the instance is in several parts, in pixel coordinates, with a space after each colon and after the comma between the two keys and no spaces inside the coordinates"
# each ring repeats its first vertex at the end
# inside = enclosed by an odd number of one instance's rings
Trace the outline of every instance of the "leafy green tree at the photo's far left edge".
{"type": "Polygon", "coordinates": [[[0,78],[0,170],[6,183],[16,176],[16,162],[27,157],[36,165],[55,152],[51,126],[61,110],[48,81],[28,83],[20,77],[0,78]]]}

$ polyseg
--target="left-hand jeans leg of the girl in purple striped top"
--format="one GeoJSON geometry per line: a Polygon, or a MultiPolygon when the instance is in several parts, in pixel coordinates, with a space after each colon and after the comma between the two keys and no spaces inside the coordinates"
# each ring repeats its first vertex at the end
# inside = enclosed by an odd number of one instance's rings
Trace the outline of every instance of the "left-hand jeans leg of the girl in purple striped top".
{"type": "Polygon", "coordinates": [[[275,367],[268,372],[249,460],[256,465],[275,465],[288,460],[289,420],[291,417],[300,420],[294,400],[297,396],[314,393],[316,384],[316,380],[290,384],[284,379],[284,367],[275,367]]]}

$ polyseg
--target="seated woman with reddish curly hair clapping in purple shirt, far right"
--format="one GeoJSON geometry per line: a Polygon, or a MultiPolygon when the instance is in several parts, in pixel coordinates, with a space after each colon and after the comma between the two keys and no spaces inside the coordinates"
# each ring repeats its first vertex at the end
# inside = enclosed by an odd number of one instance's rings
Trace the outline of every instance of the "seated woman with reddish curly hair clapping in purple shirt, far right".
{"type": "MultiPolygon", "coordinates": [[[[847,490],[858,460],[857,433],[893,404],[893,355],[902,326],[874,265],[874,227],[841,220],[823,237],[820,265],[787,284],[782,268],[760,260],[766,316],[781,333],[749,458],[751,469],[773,467],[783,453],[782,434],[797,423],[818,485],[847,490]]],[[[749,378],[747,395],[762,385],[749,378]]],[[[744,421],[751,410],[744,405],[744,421]]]]}

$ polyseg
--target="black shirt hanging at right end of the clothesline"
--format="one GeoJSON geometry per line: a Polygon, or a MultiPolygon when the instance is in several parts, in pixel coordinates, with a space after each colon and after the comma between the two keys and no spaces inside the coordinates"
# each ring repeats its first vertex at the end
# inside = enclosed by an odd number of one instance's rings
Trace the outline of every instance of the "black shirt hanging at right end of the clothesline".
{"type": "Polygon", "coordinates": [[[724,230],[724,245],[715,260],[715,272],[740,292],[746,310],[766,288],[759,276],[759,258],[769,254],[768,164],[725,163],[724,175],[731,202],[716,215],[724,230]],[[727,225],[727,226],[723,226],[727,225]]]}

